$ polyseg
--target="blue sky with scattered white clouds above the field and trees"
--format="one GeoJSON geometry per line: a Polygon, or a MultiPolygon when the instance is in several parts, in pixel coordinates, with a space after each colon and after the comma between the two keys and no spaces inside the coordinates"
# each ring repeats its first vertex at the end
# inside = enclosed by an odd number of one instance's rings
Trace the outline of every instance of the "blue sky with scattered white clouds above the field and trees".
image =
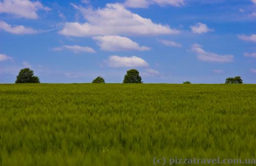
{"type": "Polygon", "coordinates": [[[0,83],[256,83],[256,0],[0,0],[0,83]]]}

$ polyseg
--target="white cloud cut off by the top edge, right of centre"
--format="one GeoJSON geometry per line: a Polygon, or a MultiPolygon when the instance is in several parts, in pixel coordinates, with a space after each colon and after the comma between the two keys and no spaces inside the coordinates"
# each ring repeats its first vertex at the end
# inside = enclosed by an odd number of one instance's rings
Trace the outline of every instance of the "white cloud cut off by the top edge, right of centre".
{"type": "Polygon", "coordinates": [[[159,6],[171,5],[179,7],[184,5],[184,0],[126,0],[124,2],[124,6],[130,8],[147,8],[153,4],[157,4],[159,6]]]}

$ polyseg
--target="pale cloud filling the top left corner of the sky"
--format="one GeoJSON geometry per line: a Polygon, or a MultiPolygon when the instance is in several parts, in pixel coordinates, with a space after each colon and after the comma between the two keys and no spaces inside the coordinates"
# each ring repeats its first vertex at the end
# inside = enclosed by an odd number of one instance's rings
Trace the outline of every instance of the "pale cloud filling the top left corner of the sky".
{"type": "Polygon", "coordinates": [[[19,17],[37,19],[38,10],[49,11],[50,8],[45,7],[38,1],[4,0],[3,2],[0,2],[0,13],[9,13],[19,17]]]}

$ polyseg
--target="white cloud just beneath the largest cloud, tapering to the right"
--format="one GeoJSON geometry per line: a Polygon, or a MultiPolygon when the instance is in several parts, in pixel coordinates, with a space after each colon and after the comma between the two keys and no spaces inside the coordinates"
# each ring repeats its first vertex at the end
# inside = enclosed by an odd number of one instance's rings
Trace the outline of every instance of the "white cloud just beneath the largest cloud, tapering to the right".
{"type": "Polygon", "coordinates": [[[147,46],[140,46],[127,37],[121,36],[96,36],[94,40],[98,41],[101,50],[105,51],[148,51],[147,46]]]}

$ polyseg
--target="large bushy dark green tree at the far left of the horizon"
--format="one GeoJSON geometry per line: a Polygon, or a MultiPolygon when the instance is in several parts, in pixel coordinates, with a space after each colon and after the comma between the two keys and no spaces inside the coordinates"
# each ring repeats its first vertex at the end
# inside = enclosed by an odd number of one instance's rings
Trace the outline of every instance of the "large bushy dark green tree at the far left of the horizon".
{"type": "Polygon", "coordinates": [[[34,76],[33,70],[24,68],[19,71],[15,83],[40,83],[40,80],[34,76]]]}

